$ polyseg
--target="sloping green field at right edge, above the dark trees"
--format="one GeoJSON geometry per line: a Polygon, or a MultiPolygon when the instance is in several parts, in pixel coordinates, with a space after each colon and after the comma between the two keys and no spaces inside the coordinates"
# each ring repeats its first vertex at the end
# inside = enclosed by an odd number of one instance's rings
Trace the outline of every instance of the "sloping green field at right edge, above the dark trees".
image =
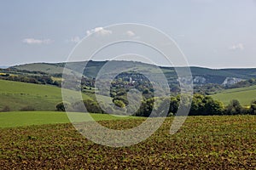
{"type": "Polygon", "coordinates": [[[227,89],[213,94],[212,97],[224,102],[224,105],[229,105],[231,99],[238,99],[241,105],[248,106],[253,99],[256,99],[256,86],[227,89]]]}

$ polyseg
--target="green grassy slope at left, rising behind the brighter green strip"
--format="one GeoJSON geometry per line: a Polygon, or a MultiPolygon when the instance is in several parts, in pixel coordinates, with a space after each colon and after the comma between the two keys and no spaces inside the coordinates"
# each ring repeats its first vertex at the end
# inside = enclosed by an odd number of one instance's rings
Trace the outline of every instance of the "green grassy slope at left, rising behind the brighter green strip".
{"type": "MultiPolygon", "coordinates": [[[[89,97],[83,94],[83,98],[89,97]]],[[[61,100],[61,88],[0,80],[0,110],[4,106],[9,106],[11,111],[32,106],[37,111],[55,111],[55,105],[61,100]]]]}

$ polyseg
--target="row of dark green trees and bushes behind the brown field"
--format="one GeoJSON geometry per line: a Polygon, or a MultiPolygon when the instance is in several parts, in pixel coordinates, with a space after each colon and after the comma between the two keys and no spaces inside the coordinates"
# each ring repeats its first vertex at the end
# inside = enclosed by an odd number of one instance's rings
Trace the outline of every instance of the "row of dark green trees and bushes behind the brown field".
{"type": "MultiPolygon", "coordinates": [[[[168,108],[167,116],[176,116],[178,107],[180,105],[181,96],[172,96],[170,98],[150,98],[143,99],[142,105],[133,114],[133,116],[146,116],[148,117],[152,111],[156,114],[154,116],[162,116],[161,111],[168,108]],[[169,103],[169,105],[166,105],[169,103]]],[[[105,111],[113,110],[112,107],[105,107],[102,109],[102,105],[99,105],[94,99],[85,99],[83,102],[75,102],[73,104],[68,102],[61,102],[56,105],[57,111],[65,111],[65,108],[69,108],[69,111],[84,111],[84,104],[87,111],[90,113],[106,113],[105,111]]],[[[113,99],[113,105],[116,105],[120,109],[127,109],[125,107],[129,105],[129,102],[125,98],[113,99]]],[[[186,104],[185,104],[186,105],[186,104]]],[[[104,105],[103,105],[104,107],[104,105]]],[[[195,94],[193,96],[191,107],[189,110],[189,116],[214,116],[214,115],[241,115],[251,114],[256,115],[256,100],[253,100],[249,108],[241,106],[237,99],[232,99],[230,104],[224,106],[221,101],[213,99],[211,96],[202,94],[195,94]]],[[[151,115],[152,116],[152,115],[151,115]]]]}

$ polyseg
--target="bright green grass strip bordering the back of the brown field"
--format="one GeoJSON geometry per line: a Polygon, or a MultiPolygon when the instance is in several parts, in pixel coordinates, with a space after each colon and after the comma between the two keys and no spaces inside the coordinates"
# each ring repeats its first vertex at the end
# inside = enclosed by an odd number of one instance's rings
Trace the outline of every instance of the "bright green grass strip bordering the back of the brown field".
{"type": "MultiPolygon", "coordinates": [[[[80,117],[87,113],[72,113],[80,117]]],[[[126,118],[139,118],[135,116],[118,117],[108,114],[90,114],[95,121],[114,120],[114,119],[126,119],[126,118]]],[[[57,111],[13,111],[0,113],[0,127],[20,127],[30,125],[43,125],[43,124],[56,124],[56,123],[68,123],[70,122],[66,112],[57,111]]]]}

